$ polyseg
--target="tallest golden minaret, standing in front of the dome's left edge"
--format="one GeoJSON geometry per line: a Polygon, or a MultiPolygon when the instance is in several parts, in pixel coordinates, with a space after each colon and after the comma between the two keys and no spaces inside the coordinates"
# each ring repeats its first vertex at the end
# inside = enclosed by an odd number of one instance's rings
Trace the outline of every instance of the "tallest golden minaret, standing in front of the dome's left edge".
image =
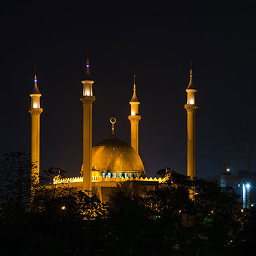
{"type": "Polygon", "coordinates": [[[92,104],[95,97],[92,95],[94,80],[90,75],[89,57],[87,54],[86,77],[82,80],[83,96],[83,189],[92,190],[92,104]]]}

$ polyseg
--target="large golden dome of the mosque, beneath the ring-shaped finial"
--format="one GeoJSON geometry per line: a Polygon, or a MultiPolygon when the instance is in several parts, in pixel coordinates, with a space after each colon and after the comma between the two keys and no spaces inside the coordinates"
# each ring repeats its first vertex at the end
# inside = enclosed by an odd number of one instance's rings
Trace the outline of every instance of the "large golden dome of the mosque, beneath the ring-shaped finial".
{"type": "Polygon", "coordinates": [[[139,174],[144,172],[144,166],[132,146],[112,136],[92,148],[92,170],[139,174]]]}

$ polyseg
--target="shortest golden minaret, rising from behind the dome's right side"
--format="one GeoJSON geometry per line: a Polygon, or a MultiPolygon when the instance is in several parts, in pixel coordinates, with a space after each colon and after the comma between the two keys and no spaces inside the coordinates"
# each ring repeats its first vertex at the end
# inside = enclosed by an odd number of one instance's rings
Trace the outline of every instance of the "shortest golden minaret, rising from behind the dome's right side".
{"type": "Polygon", "coordinates": [[[130,100],[130,144],[132,148],[138,154],[138,122],[140,122],[141,116],[138,114],[138,105],[140,102],[136,96],[136,84],[135,84],[135,75],[134,75],[134,85],[133,85],[133,96],[130,100]]]}

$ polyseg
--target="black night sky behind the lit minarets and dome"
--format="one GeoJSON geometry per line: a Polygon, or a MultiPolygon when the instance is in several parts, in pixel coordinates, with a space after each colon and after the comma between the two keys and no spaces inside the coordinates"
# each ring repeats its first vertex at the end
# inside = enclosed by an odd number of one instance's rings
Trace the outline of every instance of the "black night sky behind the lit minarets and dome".
{"type": "MultiPolygon", "coordinates": [[[[89,48],[96,96],[93,144],[110,136],[112,116],[118,138],[130,142],[129,101],[136,74],[139,150],[147,176],[166,166],[185,174],[185,89],[193,59],[197,176],[220,174],[219,156],[232,160],[233,173],[245,169],[246,148],[238,140],[256,142],[256,9],[249,2],[207,4],[2,6],[0,151],[30,151],[27,110],[37,63],[41,169],[61,167],[70,176],[79,175],[80,80],[89,48]]],[[[252,170],[255,154],[252,144],[252,170]]]]}

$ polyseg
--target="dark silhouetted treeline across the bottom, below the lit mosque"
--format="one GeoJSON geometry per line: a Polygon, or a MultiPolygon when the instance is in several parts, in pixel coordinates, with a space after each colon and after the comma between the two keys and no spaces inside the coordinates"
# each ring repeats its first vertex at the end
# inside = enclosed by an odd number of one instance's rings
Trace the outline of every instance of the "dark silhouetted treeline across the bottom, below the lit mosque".
{"type": "Polygon", "coordinates": [[[122,182],[104,204],[88,191],[56,189],[52,178],[63,171],[50,168],[27,200],[28,159],[11,153],[1,161],[0,255],[251,255],[256,249],[255,210],[242,212],[232,188],[167,169],[158,172],[165,178],[158,190],[142,197],[136,182],[122,182]],[[7,172],[19,174],[16,182],[6,181],[7,172]]]}

